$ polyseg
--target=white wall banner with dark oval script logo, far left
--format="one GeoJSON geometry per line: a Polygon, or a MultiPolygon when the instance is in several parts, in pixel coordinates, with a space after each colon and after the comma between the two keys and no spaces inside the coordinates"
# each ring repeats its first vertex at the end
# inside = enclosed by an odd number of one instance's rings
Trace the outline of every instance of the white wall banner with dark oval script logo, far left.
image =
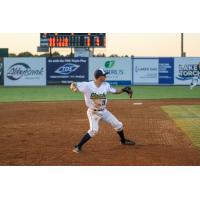
{"type": "Polygon", "coordinates": [[[46,58],[4,58],[4,85],[46,85],[46,58]]]}

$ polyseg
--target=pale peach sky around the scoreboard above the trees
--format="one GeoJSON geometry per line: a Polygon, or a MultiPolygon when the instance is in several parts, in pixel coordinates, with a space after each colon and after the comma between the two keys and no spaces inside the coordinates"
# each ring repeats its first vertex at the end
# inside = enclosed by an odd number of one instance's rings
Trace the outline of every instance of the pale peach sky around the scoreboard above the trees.
{"type": "MultiPolygon", "coordinates": [[[[106,48],[95,53],[134,56],[180,56],[180,33],[107,33],[106,48]]],[[[9,53],[29,51],[37,53],[39,33],[0,33],[0,48],[9,48],[9,53]]],[[[63,55],[69,49],[54,49],[63,55]]],[[[184,51],[187,56],[200,56],[200,33],[184,34],[184,51]]]]}

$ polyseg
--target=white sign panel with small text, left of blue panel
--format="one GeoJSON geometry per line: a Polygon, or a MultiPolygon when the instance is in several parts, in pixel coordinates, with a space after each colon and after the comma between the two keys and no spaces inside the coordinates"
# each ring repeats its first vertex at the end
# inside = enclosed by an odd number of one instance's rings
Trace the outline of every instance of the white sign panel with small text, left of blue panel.
{"type": "Polygon", "coordinates": [[[133,59],[134,84],[158,84],[158,59],[133,59]]]}

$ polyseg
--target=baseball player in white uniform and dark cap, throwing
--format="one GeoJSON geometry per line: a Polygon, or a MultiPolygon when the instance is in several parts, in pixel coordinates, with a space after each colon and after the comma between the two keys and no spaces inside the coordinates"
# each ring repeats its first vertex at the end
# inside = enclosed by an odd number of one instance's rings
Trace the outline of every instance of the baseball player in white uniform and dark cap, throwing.
{"type": "Polygon", "coordinates": [[[132,97],[132,90],[130,87],[123,89],[115,89],[105,82],[106,74],[103,69],[97,69],[94,72],[94,81],[90,82],[73,82],[70,89],[73,92],[82,92],[85,98],[85,104],[88,107],[87,116],[90,124],[90,129],[83,136],[80,142],[75,145],[73,152],[79,153],[83,145],[94,137],[99,130],[99,121],[103,120],[109,123],[120,137],[120,143],[123,145],[135,145],[134,141],[128,140],[124,136],[123,124],[111,112],[106,109],[107,93],[121,94],[126,92],[129,97],[132,97]]]}

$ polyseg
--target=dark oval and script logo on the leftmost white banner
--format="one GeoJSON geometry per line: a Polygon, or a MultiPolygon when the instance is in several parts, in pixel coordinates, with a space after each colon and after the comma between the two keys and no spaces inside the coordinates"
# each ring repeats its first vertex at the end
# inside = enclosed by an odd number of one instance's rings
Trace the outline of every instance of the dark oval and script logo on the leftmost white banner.
{"type": "Polygon", "coordinates": [[[36,77],[41,76],[44,73],[44,68],[31,69],[26,63],[15,63],[7,70],[7,78],[10,80],[18,80],[22,77],[36,77]]]}

